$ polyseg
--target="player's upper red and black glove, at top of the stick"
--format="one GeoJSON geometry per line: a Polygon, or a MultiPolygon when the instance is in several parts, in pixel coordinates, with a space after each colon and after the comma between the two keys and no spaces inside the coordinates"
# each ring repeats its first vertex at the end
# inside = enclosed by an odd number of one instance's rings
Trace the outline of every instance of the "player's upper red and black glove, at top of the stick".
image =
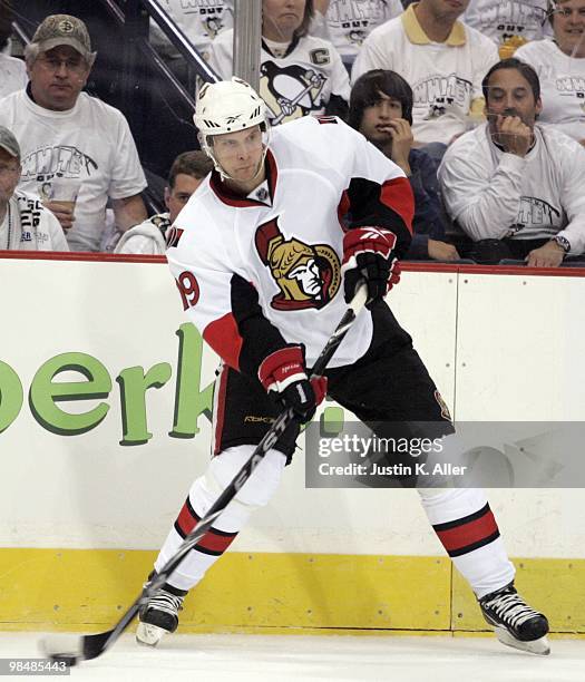
{"type": "Polygon", "coordinates": [[[368,286],[368,305],[382,300],[400,281],[394,255],[396,235],[383,227],[354,227],[343,237],[343,293],[349,303],[361,282],[368,286]]]}

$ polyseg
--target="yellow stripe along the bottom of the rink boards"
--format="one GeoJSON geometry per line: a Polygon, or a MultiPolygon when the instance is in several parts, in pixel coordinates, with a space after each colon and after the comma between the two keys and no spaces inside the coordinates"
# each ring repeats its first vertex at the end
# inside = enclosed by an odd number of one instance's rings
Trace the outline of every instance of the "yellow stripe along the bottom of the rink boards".
{"type": "MultiPolygon", "coordinates": [[[[0,630],[114,625],[155,552],[0,549],[0,630]]],[[[553,631],[585,633],[585,559],[518,559],[553,631]]],[[[447,557],[227,553],[185,601],[179,632],[456,634],[486,631],[447,557]]]]}

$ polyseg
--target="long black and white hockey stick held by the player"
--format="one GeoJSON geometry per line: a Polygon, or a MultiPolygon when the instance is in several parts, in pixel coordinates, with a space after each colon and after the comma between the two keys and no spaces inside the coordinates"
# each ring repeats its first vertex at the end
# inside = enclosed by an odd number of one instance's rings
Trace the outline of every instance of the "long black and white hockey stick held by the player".
{"type": "MultiPolygon", "coordinates": [[[[353,300],[349,304],[343,318],[332,333],[321,354],[316,359],[310,374],[319,377],[323,373],[333,353],[339,348],[340,343],[345,338],[345,334],[351,329],[358,313],[365,304],[367,286],[362,285],[355,293],[353,300]]],[[[154,593],[162,587],[170,577],[173,572],[183,562],[189,551],[201,540],[207,533],[214,520],[222,514],[225,507],[237,495],[237,491],[251,477],[254,469],[262,461],[264,455],[276,445],[279,438],[287,429],[287,427],[296,419],[292,409],[286,409],[272,423],[260,444],[256,446],[250,459],[244,464],[240,471],[234,476],[225,490],[220,495],[217,500],[209,508],[207,514],[199,520],[193,530],[185,537],[176,554],[163,566],[160,572],[147,583],[131,606],[126,611],[121,618],[116,623],[113,630],[91,635],[75,635],[75,643],[71,650],[67,651],[64,647],[62,637],[49,636],[40,641],[39,645],[45,655],[53,662],[65,662],[67,665],[76,665],[80,661],[88,661],[101,655],[109,649],[128,627],[140,607],[148,602],[154,593]]],[[[67,647],[69,649],[69,647],[67,647]]]]}

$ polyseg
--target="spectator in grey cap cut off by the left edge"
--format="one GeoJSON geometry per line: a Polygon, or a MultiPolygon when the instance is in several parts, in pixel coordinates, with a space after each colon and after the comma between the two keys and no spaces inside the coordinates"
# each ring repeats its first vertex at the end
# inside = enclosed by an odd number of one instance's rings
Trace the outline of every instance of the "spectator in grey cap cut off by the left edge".
{"type": "Polygon", "coordinates": [[[17,138],[0,126],[0,250],[69,251],[59,221],[39,197],[16,192],[20,170],[17,138]]]}

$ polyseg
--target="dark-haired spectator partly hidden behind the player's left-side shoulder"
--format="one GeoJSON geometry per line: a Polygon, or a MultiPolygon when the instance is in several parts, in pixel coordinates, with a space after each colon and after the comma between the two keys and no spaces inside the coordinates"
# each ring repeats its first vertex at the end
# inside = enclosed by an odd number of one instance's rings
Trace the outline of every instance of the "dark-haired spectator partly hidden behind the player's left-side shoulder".
{"type": "Polygon", "coordinates": [[[153,215],[125,232],[114,253],[163,255],[166,250],[166,231],[212,168],[213,164],[204,152],[179,154],[170,166],[168,186],[165,187],[165,204],[168,211],[153,215]]]}

